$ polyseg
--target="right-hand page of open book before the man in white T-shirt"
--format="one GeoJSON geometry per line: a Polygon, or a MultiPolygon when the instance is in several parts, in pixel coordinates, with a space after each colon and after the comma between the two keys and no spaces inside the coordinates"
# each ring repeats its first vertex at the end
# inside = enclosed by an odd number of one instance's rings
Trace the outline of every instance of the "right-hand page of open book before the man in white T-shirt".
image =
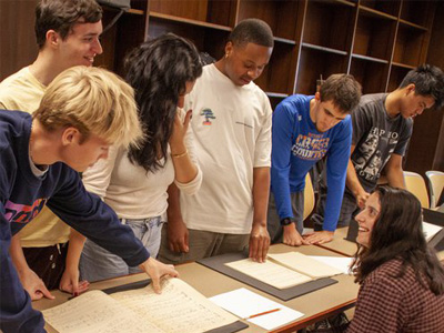
{"type": "Polygon", "coordinates": [[[309,255],[300,252],[285,252],[285,253],[269,253],[269,258],[276,261],[291,270],[295,270],[302,274],[309,275],[313,279],[327,278],[342,274],[341,270],[327,265],[323,262],[313,260],[309,255]]]}

